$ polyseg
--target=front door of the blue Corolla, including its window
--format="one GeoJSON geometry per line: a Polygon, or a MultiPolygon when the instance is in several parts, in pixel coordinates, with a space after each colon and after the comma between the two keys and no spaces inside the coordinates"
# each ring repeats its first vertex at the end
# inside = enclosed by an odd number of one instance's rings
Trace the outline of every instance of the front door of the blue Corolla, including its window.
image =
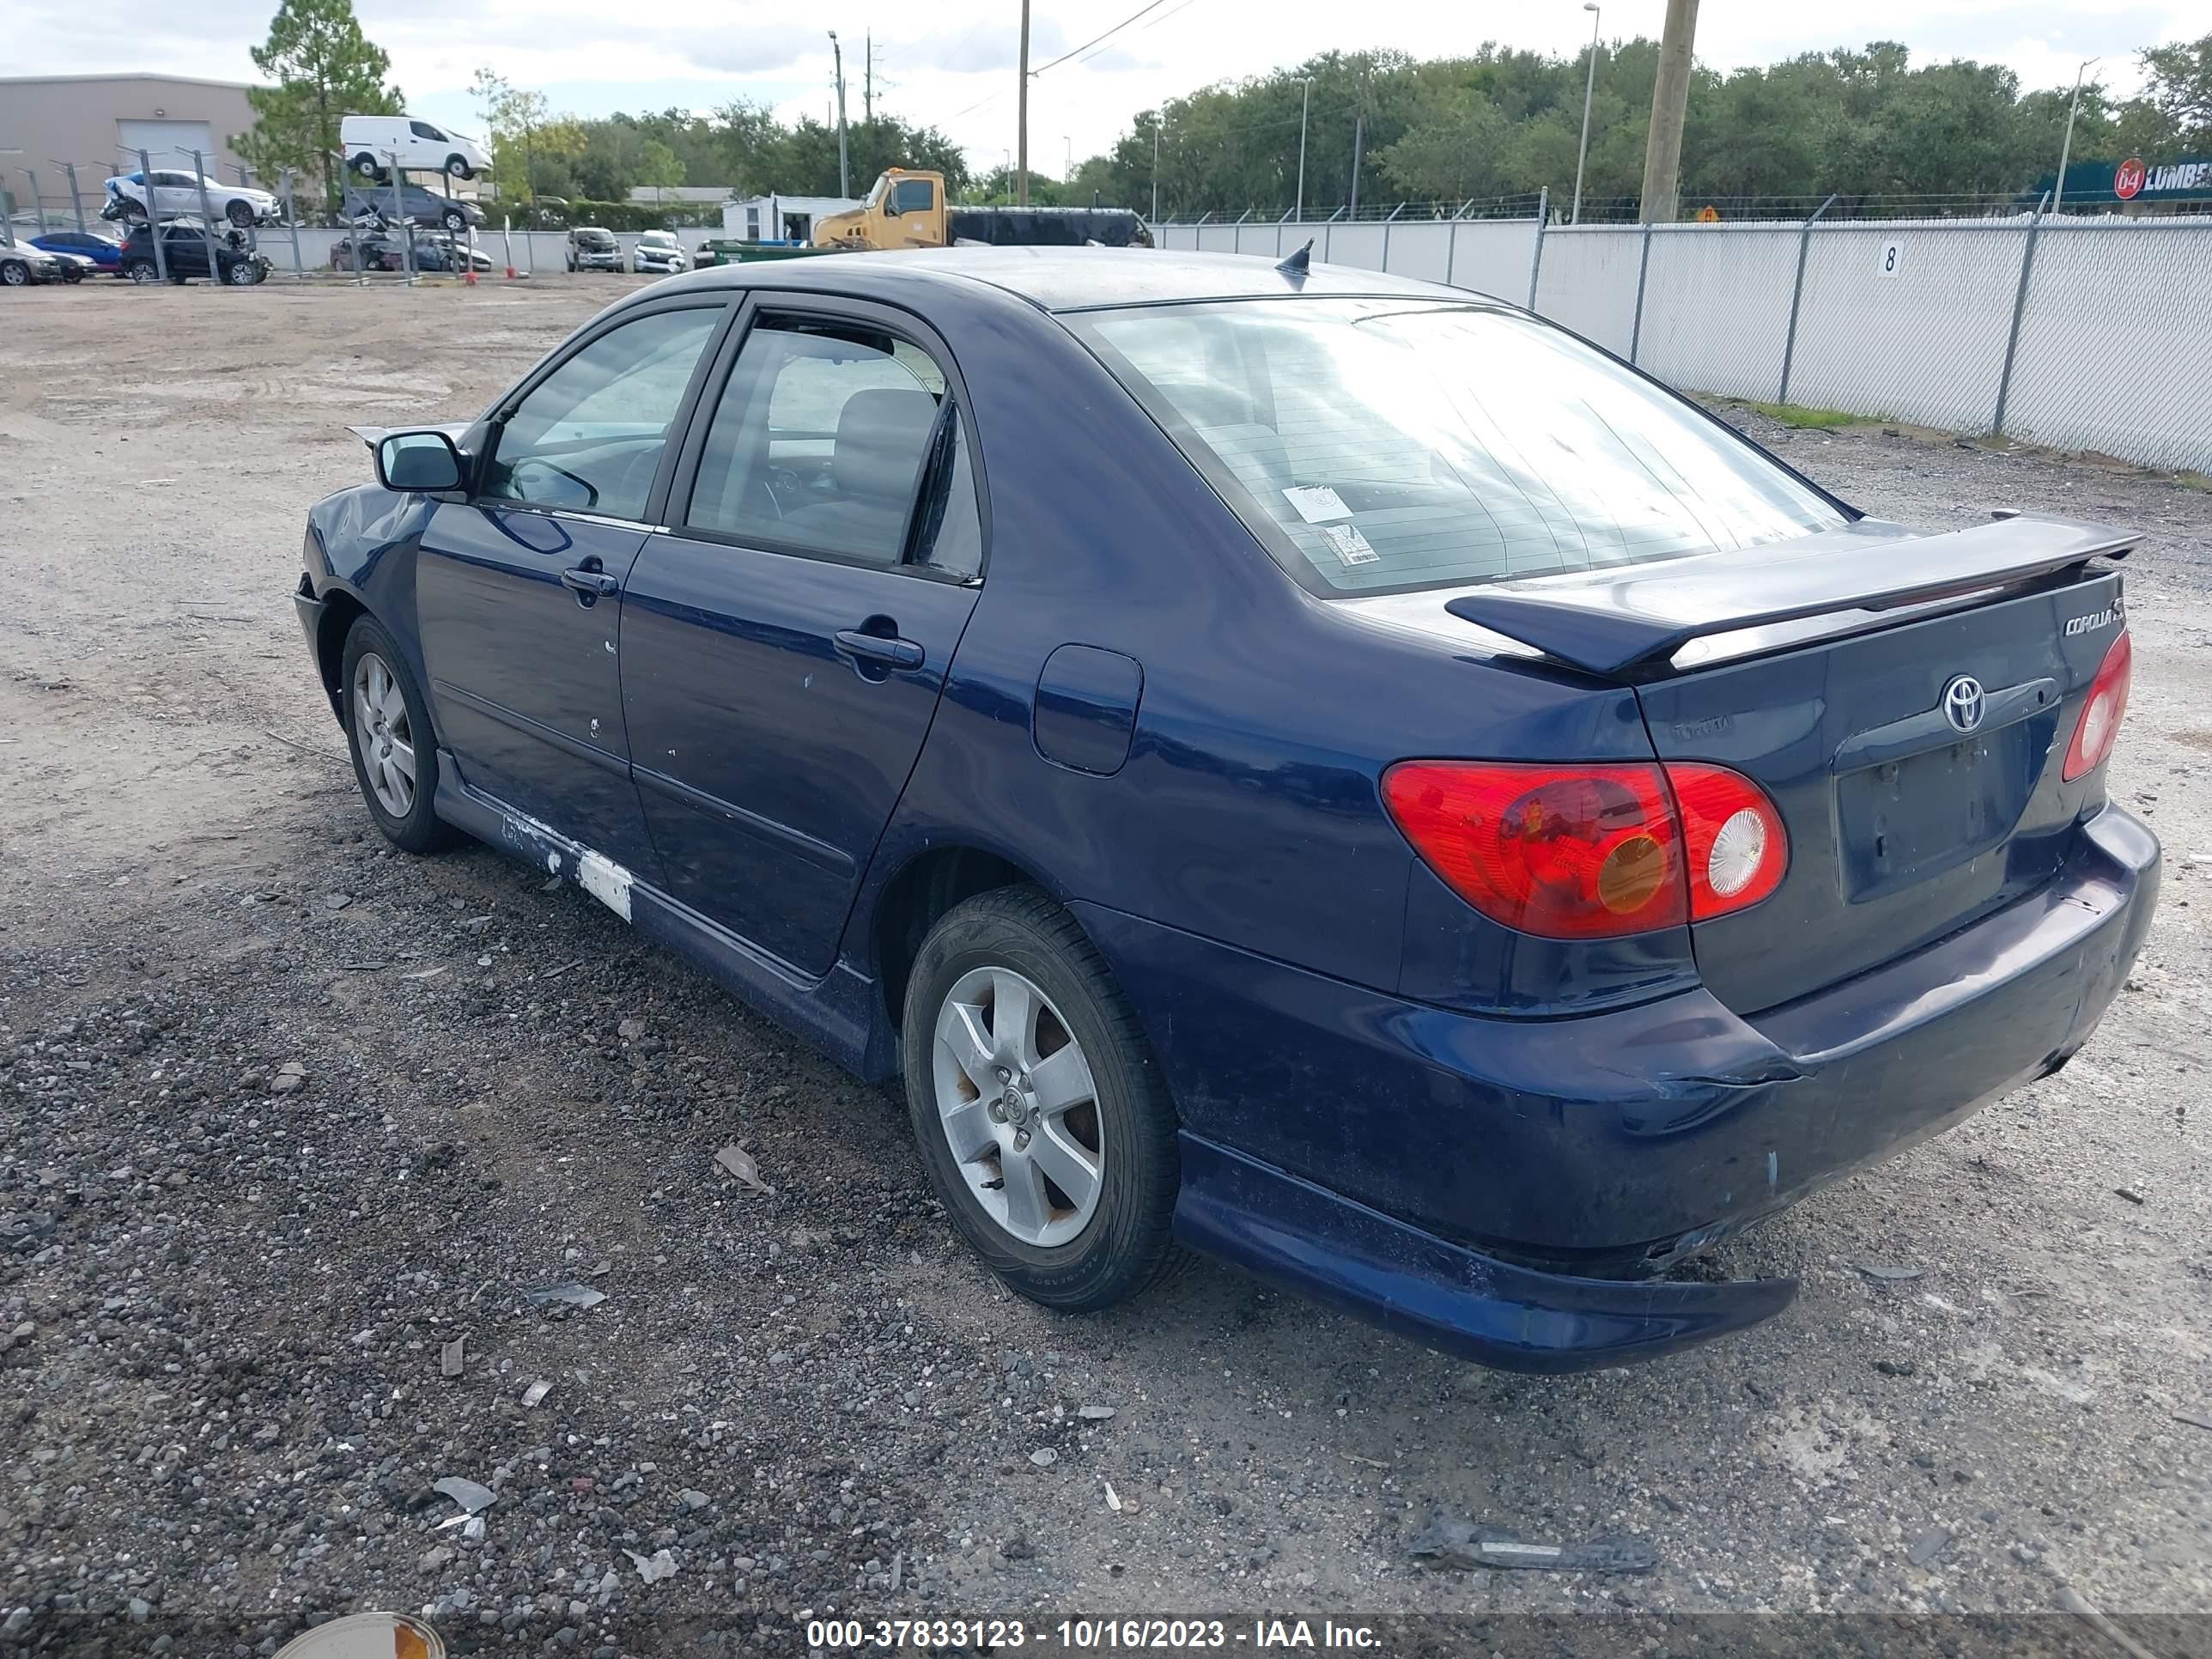
{"type": "Polygon", "coordinates": [[[431,712],[460,779],[635,872],[655,865],[622,730],[622,588],[726,316],[719,299],[624,312],[542,369],[416,562],[431,712]]]}

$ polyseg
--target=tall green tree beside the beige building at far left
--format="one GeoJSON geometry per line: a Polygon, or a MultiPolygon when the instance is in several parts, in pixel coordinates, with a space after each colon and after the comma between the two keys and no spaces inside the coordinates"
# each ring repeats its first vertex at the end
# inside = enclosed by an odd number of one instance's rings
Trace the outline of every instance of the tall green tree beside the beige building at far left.
{"type": "Polygon", "coordinates": [[[281,168],[319,173],[325,204],[336,206],[338,122],[400,111],[398,86],[385,84],[392,58],[361,33],[352,0],[283,0],[252,60],[274,86],[246,88],[254,128],[230,148],[263,179],[281,168]]]}

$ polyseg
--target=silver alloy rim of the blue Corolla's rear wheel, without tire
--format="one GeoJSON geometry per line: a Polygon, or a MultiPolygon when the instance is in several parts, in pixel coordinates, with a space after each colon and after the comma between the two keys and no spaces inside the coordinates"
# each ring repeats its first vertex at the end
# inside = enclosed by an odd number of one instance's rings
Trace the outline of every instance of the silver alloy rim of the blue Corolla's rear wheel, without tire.
{"type": "Polygon", "coordinates": [[[1082,1044],[1035,980],[962,973],[938,1006],[938,1126],[984,1214],[1026,1245],[1064,1245],[1106,1186],[1097,1084],[1082,1044]]]}

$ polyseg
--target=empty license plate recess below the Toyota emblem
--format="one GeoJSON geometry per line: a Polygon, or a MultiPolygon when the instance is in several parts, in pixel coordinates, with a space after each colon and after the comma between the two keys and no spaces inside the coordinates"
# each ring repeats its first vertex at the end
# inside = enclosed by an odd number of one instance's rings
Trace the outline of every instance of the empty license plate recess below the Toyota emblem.
{"type": "Polygon", "coordinates": [[[1878,898],[2002,845],[2026,812],[2046,728],[2026,719],[1838,776],[1845,894],[1878,898]]]}

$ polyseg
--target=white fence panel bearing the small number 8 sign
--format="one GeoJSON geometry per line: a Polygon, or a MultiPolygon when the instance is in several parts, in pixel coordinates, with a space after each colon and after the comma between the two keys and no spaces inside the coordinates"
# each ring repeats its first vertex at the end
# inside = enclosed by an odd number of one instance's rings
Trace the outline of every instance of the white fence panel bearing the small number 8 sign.
{"type": "Polygon", "coordinates": [[[2026,234],[2026,221],[1814,226],[1790,403],[1989,431],[2026,234]]]}

